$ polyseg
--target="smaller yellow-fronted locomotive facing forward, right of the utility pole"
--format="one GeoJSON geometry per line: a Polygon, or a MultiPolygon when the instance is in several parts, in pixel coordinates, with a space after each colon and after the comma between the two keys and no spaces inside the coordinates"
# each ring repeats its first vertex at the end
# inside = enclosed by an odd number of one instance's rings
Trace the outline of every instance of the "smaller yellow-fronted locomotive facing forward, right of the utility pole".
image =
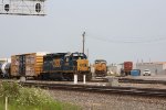
{"type": "Polygon", "coordinates": [[[105,77],[107,73],[106,61],[96,59],[94,62],[94,73],[95,73],[95,77],[105,77]]]}

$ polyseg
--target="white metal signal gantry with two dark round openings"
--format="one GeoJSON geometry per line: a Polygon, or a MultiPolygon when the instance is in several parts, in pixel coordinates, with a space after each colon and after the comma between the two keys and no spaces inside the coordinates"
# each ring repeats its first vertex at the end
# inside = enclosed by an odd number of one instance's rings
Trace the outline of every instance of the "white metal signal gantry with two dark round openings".
{"type": "Polygon", "coordinates": [[[45,15],[46,0],[0,0],[0,14],[45,15]]]}

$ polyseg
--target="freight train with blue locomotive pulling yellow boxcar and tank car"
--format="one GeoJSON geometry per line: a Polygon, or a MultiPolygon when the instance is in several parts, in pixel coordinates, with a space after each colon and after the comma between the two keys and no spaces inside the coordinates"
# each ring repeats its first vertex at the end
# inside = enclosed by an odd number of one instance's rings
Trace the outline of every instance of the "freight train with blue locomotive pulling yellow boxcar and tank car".
{"type": "MultiPolygon", "coordinates": [[[[4,64],[3,64],[4,65],[4,64]]],[[[30,53],[11,56],[11,63],[1,66],[2,76],[9,78],[33,77],[35,79],[79,80],[86,75],[91,79],[89,59],[84,53],[30,53]]]]}

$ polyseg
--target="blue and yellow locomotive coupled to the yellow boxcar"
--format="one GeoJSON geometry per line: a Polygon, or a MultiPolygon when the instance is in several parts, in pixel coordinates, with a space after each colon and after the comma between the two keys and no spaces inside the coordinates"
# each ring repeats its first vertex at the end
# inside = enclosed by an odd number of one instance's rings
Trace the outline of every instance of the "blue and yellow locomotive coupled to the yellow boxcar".
{"type": "Polygon", "coordinates": [[[74,74],[77,74],[79,80],[83,75],[91,79],[89,61],[83,53],[54,53],[43,56],[42,79],[73,80],[74,74]]]}

